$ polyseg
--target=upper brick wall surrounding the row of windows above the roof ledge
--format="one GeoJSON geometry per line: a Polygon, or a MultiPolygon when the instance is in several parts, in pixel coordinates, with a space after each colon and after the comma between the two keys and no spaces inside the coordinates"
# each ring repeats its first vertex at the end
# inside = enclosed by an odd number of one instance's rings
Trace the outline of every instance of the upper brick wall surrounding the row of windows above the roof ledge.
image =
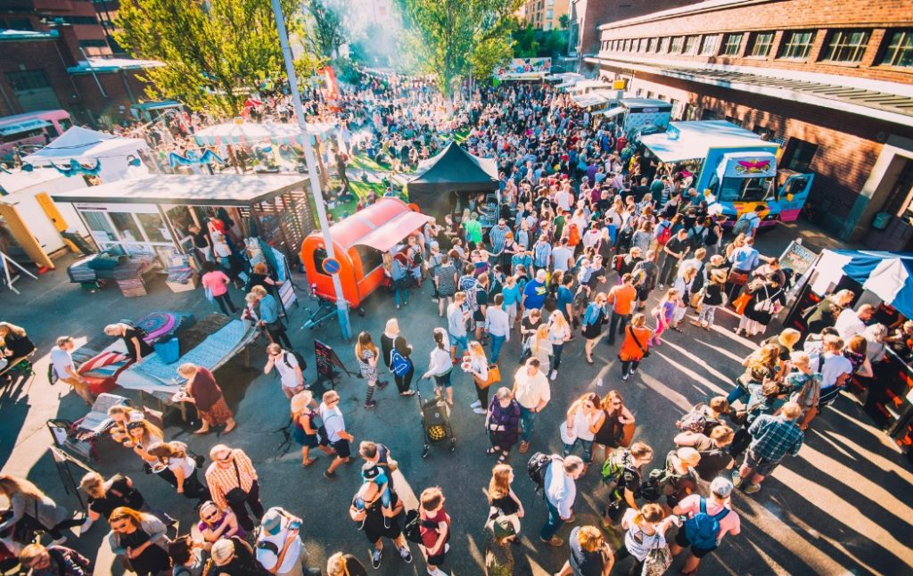
{"type": "MultiPolygon", "coordinates": [[[[659,8],[654,12],[659,11],[659,8]]],[[[612,25],[614,20],[605,20],[603,24],[612,25]]],[[[877,66],[883,39],[887,28],[913,26],[913,3],[909,0],[879,0],[867,2],[862,0],[839,0],[821,2],[821,0],[771,0],[761,4],[651,19],[640,24],[616,26],[603,29],[601,40],[706,35],[726,32],[742,32],[742,54],[748,46],[751,31],[778,32],[767,58],[740,57],[702,57],[672,54],[648,54],[635,52],[635,58],[675,58],[691,62],[710,64],[730,64],[760,68],[786,68],[807,70],[827,74],[864,77],[901,83],[913,82],[913,70],[910,68],[887,68],[877,66]],[[859,27],[871,29],[866,54],[858,64],[819,62],[827,31],[834,28],[859,27]],[[777,47],[781,44],[784,29],[813,29],[816,31],[814,45],[806,61],[791,61],[777,57],[777,47]]],[[[603,52],[611,57],[611,52],[603,52]]]]}

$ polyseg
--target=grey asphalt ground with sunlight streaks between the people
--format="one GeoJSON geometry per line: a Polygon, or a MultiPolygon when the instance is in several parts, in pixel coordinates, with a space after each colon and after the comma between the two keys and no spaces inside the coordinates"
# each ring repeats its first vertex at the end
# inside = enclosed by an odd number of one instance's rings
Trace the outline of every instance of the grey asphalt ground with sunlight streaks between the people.
{"type": "MultiPolygon", "coordinates": [[[[803,236],[813,248],[838,246],[828,235],[807,226],[781,225],[762,234],[758,246],[763,254],[779,255],[795,236],[803,236]]],[[[299,287],[306,282],[297,278],[299,287]]],[[[47,354],[54,339],[70,334],[79,343],[97,339],[103,326],[121,318],[137,319],[144,313],[167,309],[186,310],[197,317],[213,311],[203,298],[202,290],[173,294],[163,280],[152,281],[151,293],[144,298],[123,298],[117,288],[109,287],[90,294],[68,283],[66,260],[58,270],[38,280],[22,280],[17,288],[23,294],[0,292],[0,319],[24,326],[36,341],[36,372],[47,370],[47,354]]],[[[428,287],[430,285],[426,285],[428,287]]],[[[390,296],[379,293],[369,298],[362,318],[352,315],[352,330],[370,330],[375,340],[384,322],[396,317],[404,337],[415,346],[416,372],[424,372],[431,350],[431,330],[444,326],[436,315],[437,306],[430,300],[430,288],[413,291],[409,305],[394,310],[390,296]]],[[[303,292],[299,292],[303,297],[303,292]]],[[[236,303],[240,292],[233,290],[236,303]]],[[[352,345],[341,340],[340,330],[332,323],[315,330],[301,329],[307,309],[315,304],[307,298],[291,311],[289,336],[297,350],[308,358],[309,382],[315,378],[313,340],[319,339],[336,350],[343,362],[357,372],[352,345]]],[[[604,340],[596,349],[594,365],[583,359],[583,341],[577,338],[565,347],[561,371],[551,382],[552,401],[536,421],[530,452],[521,456],[515,450],[509,463],[515,468],[514,489],[526,508],[522,519],[521,545],[514,549],[518,574],[548,574],[561,569],[567,558],[565,548],[551,549],[540,543],[538,534],[546,511],[540,497],[533,493],[526,474],[528,457],[536,452],[560,452],[558,427],[572,400],[584,392],[601,395],[618,390],[637,419],[635,439],[643,440],[656,450],[657,461],[673,447],[675,421],[688,407],[717,393],[728,393],[733,378],[740,372],[739,361],[752,350],[752,342],[733,334],[738,319],[729,311],[718,312],[717,327],[711,332],[683,324],[684,333],[666,332],[665,343],[627,382],[620,379],[616,358],[617,346],[610,348],[604,340]],[[598,380],[603,386],[598,387],[598,380]]],[[[774,333],[776,324],[769,333],[774,333]]],[[[755,340],[760,340],[757,338],[755,340]]],[[[265,361],[263,344],[258,343],[246,367],[239,357],[216,372],[236,410],[239,427],[220,438],[199,437],[188,428],[173,426],[166,430],[167,439],[186,442],[200,454],[217,442],[243,448],[252,457],[260,477],[261,494],[269,506],[282,506],[304,518],[302,537],[310,552],[310,565],[325,566],[326,558],[337,550],[359,556],[369,566],[369,544],[348,515],[349,503],[361,477],[359,464],[342,466],[339,479],[321,476],[329,461],[319,455],[310,468],[300,466],[297,446],[289,452],[280,449],[281,429],[288,419],[288,402],[279,390],[278,379],[262,374],[265,361]]],[[[500,362],[505,384],[519,358],[519,339],[512,339],[502,352],[500,362]]],[[[455,372],[457,374],[457,372],[455,372]]],[[[430,382],[416,382],[422,398],[432,393],[430,382]]],[[[415,384],[414,384],[415,387],[415,384]]],[[[444,565],[447,573],[481,574],[482,524],[488,505],[483,488],[488,486],[493,456],[487,456],[488,440],[482,426],[483,416],[473,414],[469,403],[475,400],[471,380],[455,375],[456,407],[452,424],[456,434],[456,451],[447,445],[433,445],[423,459],[423,431],[419,420],[417,397],[401,398],[391,385],[376,393],[377,407],[366,411],[364,381],[343,375],[338,381],[341,409],[355,441],[373,440],[390,446],[400,469],[416,494],[429,486],[440,486],[446,496],[446,508],[453,518],[451,550],[444,565]]],[[[64,483],[47,451],[50,435],[48,418],[75,420],[85,413],[73,393],[61,385],[51,387],[43,376],[27,382],[16,382],[0,394],[0,462],[3,472],[27,476],[47,493],[68,506],[79,508],[77,497],[65,492],[64,483]]],[[[578,483],[574,511],[578,524],[598,525],[606,491],[600,482],[599,466],[593,466],[578,483]]],[[[806,437],[799,456],[788,458],[765,481],[759,494],[745,496],[736,491],[734,509],[740,514],[742,532],[727,538],[717,552],[706,558],[700,571],[706,574],[788,574],[788,573],[910,573],[913,569],[910,527],[913,518],[913,496],[909,489],[913,470],[896,445],[878,431],[858,403],[849,396],[840,398],[820,416],[806,437]]],[[[157,507],[165,508],[181,520],[182,532],[194,522],[193,502],[174,494],[162,480],[142,473],[137,458],[120,447],[108,445],[100,462],[89,466],[108,476],[115,472],[130,475],[143,494],[157,507]]],[[[75,469],[77,479],[81,472],[75,469]]],[[[103,522],[96,523],[88,534],[69,535],[69,545],[96,558],[97,574],[120,573],[120,563],[112,558],[102,540],[107,531],[103,522]]],[[[559,536],[566,538],[569,527],[559,536]]],[[[620,535],[610,534],[615,542],[620,535]]],[[[383,563],[375,573],[422,574],[425,562],[415,545],[415,561],[405,565],[388,542],[383,563]]],[[[677,560],[670,573],[677,571],[677,560]]],[[[626,569],[627,564],[624,564],[626,569]]],[[[624,573],[615,570],[614,573],[624,573]]]]}

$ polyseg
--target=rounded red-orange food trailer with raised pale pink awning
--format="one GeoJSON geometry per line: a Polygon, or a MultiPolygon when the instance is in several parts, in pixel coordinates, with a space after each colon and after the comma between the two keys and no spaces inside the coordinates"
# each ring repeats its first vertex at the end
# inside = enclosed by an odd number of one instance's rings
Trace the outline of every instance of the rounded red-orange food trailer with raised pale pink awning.
{"type": "MultiPolygon", "coordinates": [[[[364,298],[383,285],[383,253],[403,243],[429,220],[431,216],[415,212],[402,200],[384,197],[330,227],[342,294],[352,307],[361,306],[364,298]]],[[[332,278],[325,266],[323,236],[316,232],[308,236],[301,245],[300,257],[316,293],[335,300],[332,278]]]]}

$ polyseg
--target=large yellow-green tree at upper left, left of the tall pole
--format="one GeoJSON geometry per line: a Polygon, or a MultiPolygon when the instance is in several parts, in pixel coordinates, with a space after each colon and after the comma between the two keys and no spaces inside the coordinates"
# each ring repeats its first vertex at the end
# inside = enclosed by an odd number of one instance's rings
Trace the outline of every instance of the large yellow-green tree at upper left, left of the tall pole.
{"type": "MultiPolygon", "coordinates": [[[[282,0],[290,28],[297,4],[282,0]]],[[[268,0],[121,0],[115,30],[131,56],[165,64],[143,71],[153,99],[236,116],[259,82],[286,79],[268,0]]],[[[316,64],[304,58],[296,66],[309,73],[316,64]]]]}

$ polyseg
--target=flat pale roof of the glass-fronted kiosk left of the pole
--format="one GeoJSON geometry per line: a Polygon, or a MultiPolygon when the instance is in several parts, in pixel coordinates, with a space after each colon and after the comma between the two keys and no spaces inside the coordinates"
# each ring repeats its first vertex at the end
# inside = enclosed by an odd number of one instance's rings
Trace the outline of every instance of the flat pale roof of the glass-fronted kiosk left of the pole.
{"type": "Polygon", "coordinates": [[[185,204],[249,206],[290,190],[307,177],[274,174],[150,174],[100,186],[52,194],[56,202],[86,204],[185,204]]]}

